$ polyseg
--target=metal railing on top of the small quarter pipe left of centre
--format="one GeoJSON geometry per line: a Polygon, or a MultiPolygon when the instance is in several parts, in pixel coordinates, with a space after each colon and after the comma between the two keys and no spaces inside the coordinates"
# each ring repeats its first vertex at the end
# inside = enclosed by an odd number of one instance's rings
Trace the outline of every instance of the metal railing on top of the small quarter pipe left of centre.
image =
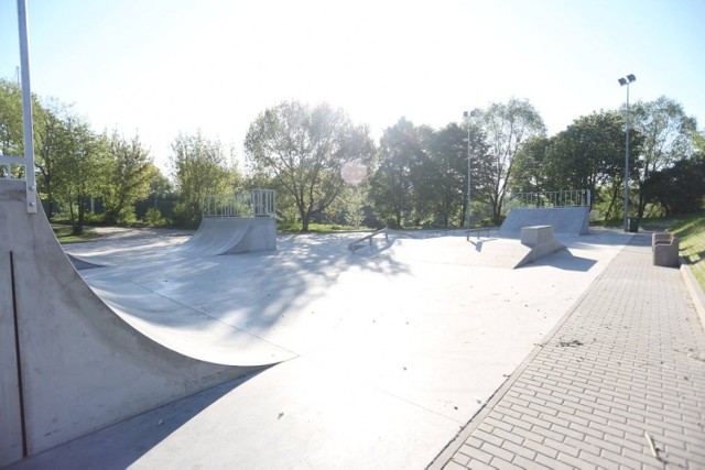
{"type": "Polygon", "coordinates": [[[252,189],[235,195],[207,195],[203,217],[275,217],[276,192],[252,189]]]}

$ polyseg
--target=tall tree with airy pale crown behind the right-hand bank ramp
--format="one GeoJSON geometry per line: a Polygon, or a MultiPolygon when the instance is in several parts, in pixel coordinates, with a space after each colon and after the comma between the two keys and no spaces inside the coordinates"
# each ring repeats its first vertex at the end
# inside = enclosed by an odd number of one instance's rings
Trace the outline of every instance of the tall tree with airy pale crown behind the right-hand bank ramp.
{"type": "Polygon", "coordinates": [[[486,110],[474,110],[470,121],[481,129],[489,149],[489,164],[478,162],[478,170],[485,172],[478,177],[480,182],[487,182],[478,192],[491,205],[492,220],[498,223],[512,177],[514,157],[524,141],[544,135],[545,127],[533,106],[518,99],[511,99],[506,105],[492,103],[486,110]]]}

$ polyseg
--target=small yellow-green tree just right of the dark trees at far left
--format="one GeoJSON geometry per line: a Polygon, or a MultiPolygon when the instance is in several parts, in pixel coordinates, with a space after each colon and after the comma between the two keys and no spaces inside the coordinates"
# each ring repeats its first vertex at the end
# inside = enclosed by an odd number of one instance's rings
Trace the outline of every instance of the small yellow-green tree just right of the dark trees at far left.
{"type": "Polygon", "coordinates": [[[123,222],[134,219],[134,203],[150,194],[150,183],[158,173],[152,157],[138,135],[126,140],[117,131],[109,140],[102,190],[105,221],[123,222]]]}

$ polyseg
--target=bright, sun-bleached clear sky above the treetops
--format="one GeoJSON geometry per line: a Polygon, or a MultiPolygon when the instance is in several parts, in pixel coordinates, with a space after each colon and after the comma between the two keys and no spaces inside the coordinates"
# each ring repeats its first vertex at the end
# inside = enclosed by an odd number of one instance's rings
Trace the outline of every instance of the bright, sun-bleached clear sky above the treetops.
{"type": "MultiPolygon", "coordinates": [[[[96,131],[139,132],[162,167],[180,131],[241,155],[282,100],[341,107],[373,135],[525,98],[549,134],[661,95],[705,125],[705,0],[28,0],[32,88],[96,131]]],[[[19,65],[0,0],[0,76],[19,65]]]]}

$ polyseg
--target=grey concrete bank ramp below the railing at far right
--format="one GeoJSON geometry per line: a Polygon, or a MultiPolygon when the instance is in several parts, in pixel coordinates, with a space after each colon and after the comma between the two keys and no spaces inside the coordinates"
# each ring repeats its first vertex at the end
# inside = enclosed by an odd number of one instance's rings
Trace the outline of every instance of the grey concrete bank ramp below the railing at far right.
{"type": "Polygon", "coordinates": [[[522,227],[552,226],[560,234],[587,234],[589,207],[517,208],[511,209],[499,228],[502,237],[519,237],[522,227]]]}

